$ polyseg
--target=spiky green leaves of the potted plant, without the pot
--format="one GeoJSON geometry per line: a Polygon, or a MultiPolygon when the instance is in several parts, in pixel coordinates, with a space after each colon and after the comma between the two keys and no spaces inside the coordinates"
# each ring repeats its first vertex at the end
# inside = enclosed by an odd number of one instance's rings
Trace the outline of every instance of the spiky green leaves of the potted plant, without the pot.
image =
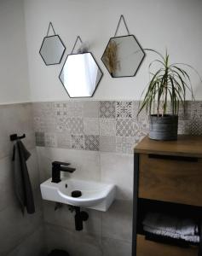
{"type": "Polygon", "coordinates": [[[165,52],[161,55],[157,50],[145,49],[159,55],[159,58],[149,64],[150,82],[147,88],[142,92],[145,93],[143,101],[139,106],[139,113],[146,108],[147,113],[152,114],[154,111],[158,116],[164,116],[167,113],[167,107],[170,104],[172,115],[179,112],[179,105],[185,110],[186,91],[189,90],[194,100],[191,79],[182,66],[193,69],[198,75],[199,73],[190,65],[184,63],[170,64],[170,56],[165,52]],[[151,71],[153,64],[160,65],[159,69],[154,73],[151,71]]]}

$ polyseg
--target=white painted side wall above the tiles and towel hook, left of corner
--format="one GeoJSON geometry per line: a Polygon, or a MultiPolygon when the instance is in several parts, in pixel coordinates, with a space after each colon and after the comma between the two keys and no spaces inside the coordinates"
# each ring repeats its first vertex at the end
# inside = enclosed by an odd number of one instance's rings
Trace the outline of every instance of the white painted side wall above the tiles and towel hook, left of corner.
{"type": "Polygon", "coordinates": [[[0,0],[0,104],[29,102],[23,0],[0,0]]]}

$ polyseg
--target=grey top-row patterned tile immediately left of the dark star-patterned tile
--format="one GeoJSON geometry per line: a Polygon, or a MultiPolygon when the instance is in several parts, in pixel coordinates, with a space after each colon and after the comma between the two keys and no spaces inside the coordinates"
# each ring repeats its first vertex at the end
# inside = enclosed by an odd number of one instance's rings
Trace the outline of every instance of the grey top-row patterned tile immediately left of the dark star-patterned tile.
{"type": "Polygon", "coordinates": [[[100,118],[115,118],[116,102],[100,102],[100,118]]]}

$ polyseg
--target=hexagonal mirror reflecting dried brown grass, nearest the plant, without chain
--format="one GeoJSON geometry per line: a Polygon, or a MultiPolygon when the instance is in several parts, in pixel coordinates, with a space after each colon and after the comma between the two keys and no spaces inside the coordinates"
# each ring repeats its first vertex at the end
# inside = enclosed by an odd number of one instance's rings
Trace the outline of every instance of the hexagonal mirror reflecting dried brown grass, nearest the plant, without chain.
{"type": "Polygon", "coordinates": [[[113,78],[133,77],[145,53],[134,35],[110,38],[101,61],[113,78]]]}

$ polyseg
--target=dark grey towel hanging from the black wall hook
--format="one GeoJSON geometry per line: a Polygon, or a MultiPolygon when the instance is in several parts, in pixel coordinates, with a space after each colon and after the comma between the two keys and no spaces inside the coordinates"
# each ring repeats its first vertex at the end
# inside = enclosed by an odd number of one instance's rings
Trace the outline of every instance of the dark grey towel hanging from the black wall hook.
{"type": "Polygon", "coordinates": [[[14,161],[14,187],[15,194],[20,203],[22,213],[34,213],[34,200],[32,195],[32,185],[26,166],[26,160],[31,154],[26,150],[20,140],[14,144],[13,161],[14,161]]]}

